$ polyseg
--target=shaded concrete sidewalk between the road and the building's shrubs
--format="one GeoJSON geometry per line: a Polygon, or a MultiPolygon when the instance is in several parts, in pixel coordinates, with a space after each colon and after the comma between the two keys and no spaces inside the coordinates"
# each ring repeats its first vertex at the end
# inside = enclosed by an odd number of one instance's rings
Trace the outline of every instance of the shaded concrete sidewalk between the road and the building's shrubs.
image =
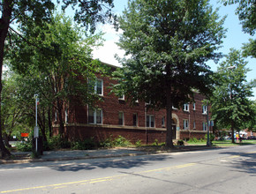
{"type": "MultiPolygon", "coordinates": [[[[153,146],[154,147],[154,146],[153,146]]],[[[13,152],[12,160],[0,160],[0,164],[28,163],[54,160],[82,160],[110,157],[136,156],[154,153],[177,153],[212,149],[207,146],[175,146],[169,150],[151,150],[140,148],[112,148],[99,150],[68,150],[68,151],[44,151],[39,159],[31,159],[31,152],[13,152]]]]}

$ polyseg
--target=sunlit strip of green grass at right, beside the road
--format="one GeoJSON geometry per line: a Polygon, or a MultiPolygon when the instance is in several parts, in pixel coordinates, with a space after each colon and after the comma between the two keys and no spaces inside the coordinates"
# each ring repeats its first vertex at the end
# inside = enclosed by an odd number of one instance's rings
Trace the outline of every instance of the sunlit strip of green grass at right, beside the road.
{"type": "MultiPolygon", "coordinates": [[[[199,142],[187,142],[188,145],[191,146],[201,146],[207,145],[207,141],[199,141],[199,142]]],[[[242,143],[233,144],[231,140],[222,140],[222,141],[213,141],[213,146],[222,147],[222,146],[245,146],[245,145],[255,145],[256,140],[243,140],[242,143]]]]}

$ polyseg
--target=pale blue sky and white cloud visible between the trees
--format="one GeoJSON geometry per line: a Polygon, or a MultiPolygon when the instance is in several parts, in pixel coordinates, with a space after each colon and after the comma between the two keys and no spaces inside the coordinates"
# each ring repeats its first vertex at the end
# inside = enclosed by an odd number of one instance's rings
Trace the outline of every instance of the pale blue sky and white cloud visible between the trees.
{"type": "MultiPolygon", "coordinates": [[[[117,14],[122,14],[124,7],[127,7],[127,2],[127,0],[114,0],[114,11],[117,14]]],[[[252,37],[249,34],[243,33],[240,21],[235,14],[237,8],[236,4],[224,6],[216,0],[211,0],[210,2],[214,5],[214,8],[220,7],[219,15],[221,17],[227,15],[224,27],[227,28],[228,31],[226,33],[226,38],[223,39],[222,48],[220,48],[219,51],[224,55],[227,55],[230,52],[230,48],[240,49],[243,46],[243,43],[248,42],[249,38],[255,38],[255,35],[252,37]]],[[[119,49],[115,43],[119,39],[118,34],[121,34],[121,32],[116,32],[113,27],[109,25],[99,26],[99,29],[105,33],[103,38],[106,41],[104,41],[104,46],[102,48],[94,49],[94,58],[99,58],[104,63],[120,66],[114,56],[116,54],[117,56],[124,56],[124,50],[119,49]]],[[[224,60],[224,58],[222,58],[222,60],[224,60]]],[[[219,63],[221,63],[222,60],[219,63]]],[[[246,67],[251,70],[247,73],[247,81],[249,81],[256,78],[256,59],[248,57],[246,61],[248,62],[246,67]]],[[[212,71],[217,71],[218,64],[213,61],[209,61],[207,64],[212,71]]],[[[256,88],[253,88],[253,94],[254,97],[252,97],[252,100],[256,100],[256,88]]]]}

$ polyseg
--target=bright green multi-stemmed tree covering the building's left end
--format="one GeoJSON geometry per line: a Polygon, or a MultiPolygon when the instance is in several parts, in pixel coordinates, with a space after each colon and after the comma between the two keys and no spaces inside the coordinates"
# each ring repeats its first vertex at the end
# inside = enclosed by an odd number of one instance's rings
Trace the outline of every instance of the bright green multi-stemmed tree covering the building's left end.
{"type": "MultiPolygon", "coordinates": [[[[44,109],[56,110],[59,134],[64,138],[64,109],[72,109],[72,98],[76,97],[73,102],[87,104],[98,100],[99,96],[91,93],[85,82],[87,78],[95,78],[96,72],[104,73],[102,65],[92,59],[94,46],[102,42],[101,34],[87,35],[64,15],[56,15],[46,27],[34,26],[31,31],[37,35],[27,40],[41,43],[34,47],[17,37],[19,40],[11,49],[10,63],[14,70],[23,74],[23,82],[28,82],[23,94],[29,94],[32,99],[37,93],[44,109]]],[[[44,128],[44,122],[41,122],[41,131],[44,128]]]]}

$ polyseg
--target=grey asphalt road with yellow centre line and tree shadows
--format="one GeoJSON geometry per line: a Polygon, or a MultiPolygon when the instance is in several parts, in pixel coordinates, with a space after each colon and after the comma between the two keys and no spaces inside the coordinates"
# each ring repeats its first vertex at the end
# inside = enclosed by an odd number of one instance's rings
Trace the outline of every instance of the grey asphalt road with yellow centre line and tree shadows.
{"type": "Polygon", "coordinates": [[[256,193],[256,146],[0,165],[0,193],[256,193]]]}

